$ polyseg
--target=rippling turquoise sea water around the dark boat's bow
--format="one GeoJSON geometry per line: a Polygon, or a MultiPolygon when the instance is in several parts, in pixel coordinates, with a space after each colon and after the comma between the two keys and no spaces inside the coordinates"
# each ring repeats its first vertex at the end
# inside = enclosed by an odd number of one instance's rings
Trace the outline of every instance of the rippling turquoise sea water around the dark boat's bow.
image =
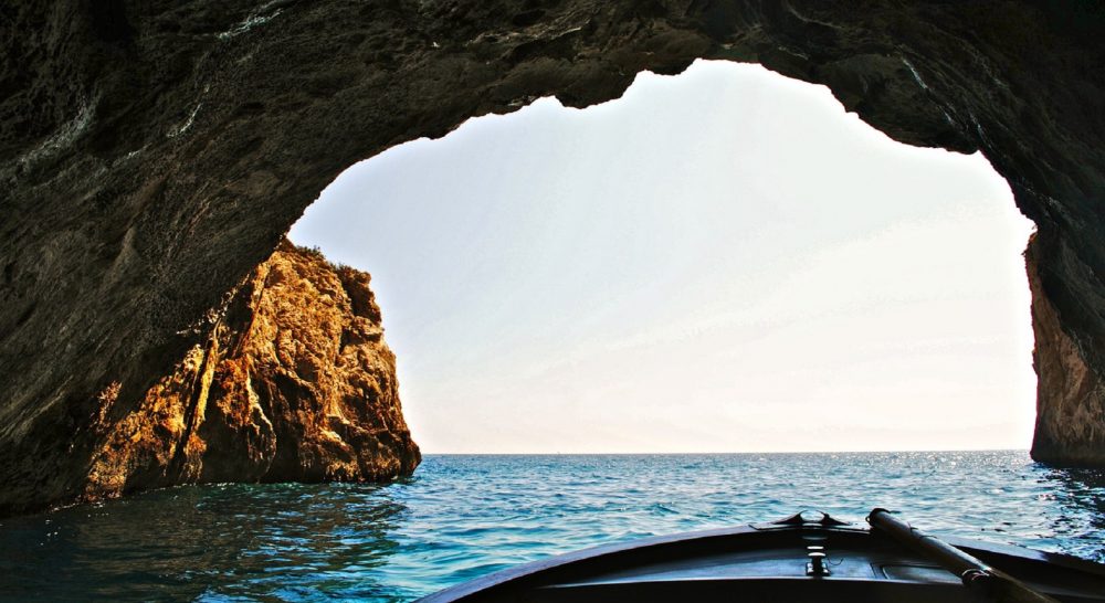
{"type": "Polygon", "coordinates": [[[1019,451],[430,455],[385,486],[191,486],[2,520],[0,599],[409,601],[582,547],[874,506],[1105,561],[1105,473],[1019,451]]]}

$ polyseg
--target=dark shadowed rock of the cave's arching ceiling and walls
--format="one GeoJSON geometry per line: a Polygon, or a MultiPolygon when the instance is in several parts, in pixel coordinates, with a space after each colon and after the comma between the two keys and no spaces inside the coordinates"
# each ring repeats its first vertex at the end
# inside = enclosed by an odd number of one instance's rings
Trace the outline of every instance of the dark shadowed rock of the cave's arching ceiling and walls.
{"type": "MultiPolygon", "coordinates": [[[[641,70],[697,57],[825,84],[904,142],[985,152],[1039,226],[1041,384],[1074,368],[1097,379],[1105,19],[1053,4],[7,2],[0,508],[82,495],[117,425],[206,345],[228,292],[341,169],[543,95],[614,98],[641,70]]],[[[1093,392],[1041,389],[1041,414],[1056,399],[1099,410],[1093,392]]],[[[1038,453],[1105,464],[1080,441],[1099,432],[1056,424],[1038,453]]]]}

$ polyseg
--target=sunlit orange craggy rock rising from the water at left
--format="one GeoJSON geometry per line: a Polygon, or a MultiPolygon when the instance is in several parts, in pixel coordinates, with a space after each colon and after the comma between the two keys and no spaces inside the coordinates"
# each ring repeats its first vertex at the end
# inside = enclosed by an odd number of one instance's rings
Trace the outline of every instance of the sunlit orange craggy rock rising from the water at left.
{"type": "MultiPolygon", "coordinates": [[[[421,456],[369,275],[284,242],[204,346],[114,424],[85,499],[182,483],[381,480],[421,456]]],[[[117,384],[99,395],[106,416],[117,384]]]]}

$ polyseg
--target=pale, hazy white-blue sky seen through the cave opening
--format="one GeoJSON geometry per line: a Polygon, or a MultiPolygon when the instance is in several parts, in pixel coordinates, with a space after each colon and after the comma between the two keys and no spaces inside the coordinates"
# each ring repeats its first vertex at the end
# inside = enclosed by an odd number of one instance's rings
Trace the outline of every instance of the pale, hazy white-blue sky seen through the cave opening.
{"type": "Polygon", "coordinates": [[[1031,222],[757,65],[642,73],[360,162],[292,229],[368,271],[427,453],[1027,448],[1031,222]]]}

